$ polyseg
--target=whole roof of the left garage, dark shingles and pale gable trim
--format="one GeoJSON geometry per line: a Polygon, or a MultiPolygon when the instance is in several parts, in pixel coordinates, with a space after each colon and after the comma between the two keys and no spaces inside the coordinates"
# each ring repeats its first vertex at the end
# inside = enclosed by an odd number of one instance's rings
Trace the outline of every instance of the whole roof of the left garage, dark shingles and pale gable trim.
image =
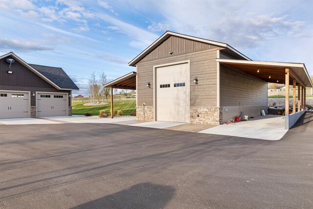
{"type": "Polygon", "coordinates": [[[7,56],[11,56],[18,60],[23,66],[44,79],[57,90],[79,90],[76,84],[72,81],[72,79],[70,79],[70,77],[62,68],[28,64],[13,52],[9,52],[0,56],[0,59],[7,56]]]}

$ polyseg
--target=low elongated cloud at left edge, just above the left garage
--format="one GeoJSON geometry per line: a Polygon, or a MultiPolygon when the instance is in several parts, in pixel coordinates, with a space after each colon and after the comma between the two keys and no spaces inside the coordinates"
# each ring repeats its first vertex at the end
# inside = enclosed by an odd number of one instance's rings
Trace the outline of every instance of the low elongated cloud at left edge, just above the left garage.
{"type": "Polygon", "coordinates": [[[0,38],[0,48],[11,51],[46,51],[53,50],[52,47],[42,46],[34,42],[21,41],[16,39],[0,38]]]}

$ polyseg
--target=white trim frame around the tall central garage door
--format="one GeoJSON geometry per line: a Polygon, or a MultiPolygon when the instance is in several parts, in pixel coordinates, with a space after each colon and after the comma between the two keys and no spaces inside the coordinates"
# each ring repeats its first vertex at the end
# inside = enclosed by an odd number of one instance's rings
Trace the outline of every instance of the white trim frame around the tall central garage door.
{"type": "Polygon", "coordinates": [[[188,74],[189,74],[189,79],[188,79],[188,86],[189,86],[189,120],[188,123],[190,123],[190,60],[184,60],[184,61],[179,61],[179,62],[173,62],[173,63],[166,63],[166,64],[161,64],[161,65],[155,65],[153,66],[153,119],[154,121],[157,120],[156,118],[156,69],[161,68],[161,67],[168,67],[168,66],[174,66],[174,65],[181,65],[181,64],[188,64],[188,74]]]}

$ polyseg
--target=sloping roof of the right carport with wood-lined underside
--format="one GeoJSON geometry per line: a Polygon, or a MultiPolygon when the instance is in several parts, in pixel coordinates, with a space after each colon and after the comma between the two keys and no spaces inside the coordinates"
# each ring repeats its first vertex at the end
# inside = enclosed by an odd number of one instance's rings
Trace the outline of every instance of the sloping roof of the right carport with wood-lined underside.
{"type": "MultiPolygon", "coordinates": [[[[217,59],[217,62],[260,78],[269,83],[285,83],[285,69],[291,70],[291,76],[302,86],[313,88],[313,84],[303,63],[267,62],[250,60],[217,59]]],[[[290,84],[292,85],[292,80],[290,84]]]]}

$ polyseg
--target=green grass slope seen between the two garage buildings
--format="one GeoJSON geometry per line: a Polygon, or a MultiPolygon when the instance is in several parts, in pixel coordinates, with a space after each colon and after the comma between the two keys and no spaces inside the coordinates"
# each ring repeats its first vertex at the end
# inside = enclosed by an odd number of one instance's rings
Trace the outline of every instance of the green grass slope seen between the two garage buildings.
{"type": "MultiPolygon", "coordinates": [[[[72,104],[72,114],[73,115],[85,115],[90,113],[93,116],[98,116],[100,110],[104,110],[106,113],[110,113],[111,103],[108,102],[106,105],[96,105],[96,106],[84,106],[82,102],[74,102],[72,104]]],[[[123,115],[131,115],[132,112],[136,112],[136,100],[123,100],[113,102],[113,109],[115,114],[118,110],[123,111],[123,115]]]]}

